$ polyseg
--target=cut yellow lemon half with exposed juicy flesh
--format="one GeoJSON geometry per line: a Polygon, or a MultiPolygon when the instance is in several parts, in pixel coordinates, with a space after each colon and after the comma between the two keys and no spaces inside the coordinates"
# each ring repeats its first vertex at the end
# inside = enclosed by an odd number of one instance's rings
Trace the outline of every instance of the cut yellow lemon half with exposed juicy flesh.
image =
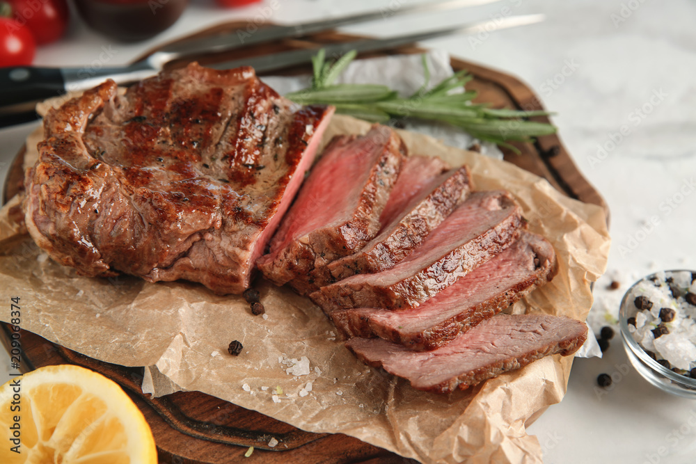
{"type": "Polygon", "coordinates": [[[157,464],[157,449],[115,382],[84,367],[47,366],[0,387],[0,463],[157,464]]]}

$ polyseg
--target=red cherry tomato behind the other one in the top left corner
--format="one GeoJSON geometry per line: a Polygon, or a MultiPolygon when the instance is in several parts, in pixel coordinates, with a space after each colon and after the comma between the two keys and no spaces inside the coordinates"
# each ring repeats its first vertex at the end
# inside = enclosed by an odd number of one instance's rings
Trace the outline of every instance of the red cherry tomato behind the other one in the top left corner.
{"type": "Polygon", "coordinates": [[[55,42],[68,26],[68,3],[65,0],[6,0],[19,24],[26,24],[38,45],[55,42]]]}

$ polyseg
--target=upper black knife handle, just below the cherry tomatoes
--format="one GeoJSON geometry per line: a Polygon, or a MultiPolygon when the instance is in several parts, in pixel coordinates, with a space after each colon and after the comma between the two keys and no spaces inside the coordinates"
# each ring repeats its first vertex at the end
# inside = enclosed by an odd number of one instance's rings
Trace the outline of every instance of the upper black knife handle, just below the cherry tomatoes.
{"type": "Polygon", "coordinates": [[[45,100],[64,93],[65,80],[58,68],[31,66],[0,68],[0,106],[45,100]]]}

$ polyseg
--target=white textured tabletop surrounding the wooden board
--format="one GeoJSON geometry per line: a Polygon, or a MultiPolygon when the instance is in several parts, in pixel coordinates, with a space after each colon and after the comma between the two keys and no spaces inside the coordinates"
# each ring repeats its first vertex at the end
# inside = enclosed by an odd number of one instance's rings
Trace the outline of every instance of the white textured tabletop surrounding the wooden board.
{"type": "MultiPolygon", "coordinates": [[[[113,44],[74,24],[68,38],[40,49],[35,64],[81,66],[106,47],[108,64],[118,65],[157,42],[230,19],[301,22],[404,3],[411,2],[266,0],[221,11],[196,2],[175,26],[139,45],[113,44]]],[[[502,0],[345,30],[393,35],[525,13],[546,13],[548,19],[475,40],[452,37],[425,45],[521,77],[557,111],[554,122],[564,143],[612,213],[608,275],[596,287],[591,314],[599,328],[605,310],[616,312],[633,280],[656,269],[696,269],[696,3],[502,0]],[[611,280],[622,288],[606,290],[611,280]]],[[[3,178],[31,128],[0,131],[3,178]]],[[[696,402],[662,393],[627,363],[618,337],[604,359],[576,360],[567,397],[529,429],[547,463],[695,461],[696,402]],[[617,380],[608,390],[596,388],[602,372],[617,380]]],[[[0,359],[0,380],[7,365],[0,359]]]]}

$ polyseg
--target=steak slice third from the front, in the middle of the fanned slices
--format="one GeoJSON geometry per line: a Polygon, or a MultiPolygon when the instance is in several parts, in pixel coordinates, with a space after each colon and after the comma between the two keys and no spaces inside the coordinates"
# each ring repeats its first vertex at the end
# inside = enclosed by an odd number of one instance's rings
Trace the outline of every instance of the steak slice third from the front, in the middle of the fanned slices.
{"type": "Polygon", "coordinates": [[[353,275],[322,287],[310,298],[326,311],[416,307],[505,250],[523,225],[521,209],[509,193],[473,193],[392,269],[353,275]]]}

